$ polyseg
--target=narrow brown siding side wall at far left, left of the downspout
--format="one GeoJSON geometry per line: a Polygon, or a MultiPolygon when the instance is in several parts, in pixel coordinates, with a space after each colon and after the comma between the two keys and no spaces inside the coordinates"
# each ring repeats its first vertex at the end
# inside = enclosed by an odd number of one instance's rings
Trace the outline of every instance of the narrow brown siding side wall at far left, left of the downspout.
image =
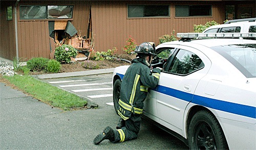
{"type": "Polygon", "coordinates": [[[14,3],[8,1],[0,2],[0,57],[13,60],[16,55],[15,51],[15,33],[14,33],[14,10],[12,10],[13,19],[7,21],[6,9],[10,4],[14,7],[14,3]]]}

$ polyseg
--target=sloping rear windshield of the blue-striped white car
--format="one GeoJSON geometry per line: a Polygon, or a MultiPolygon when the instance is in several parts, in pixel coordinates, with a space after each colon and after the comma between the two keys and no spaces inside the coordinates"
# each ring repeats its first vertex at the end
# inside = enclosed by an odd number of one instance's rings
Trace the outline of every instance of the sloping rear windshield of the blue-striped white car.
{"type": "Polygon", "coordinates": [[[212,47],[247,78],[256,77],[256,44],[212,47]]]}

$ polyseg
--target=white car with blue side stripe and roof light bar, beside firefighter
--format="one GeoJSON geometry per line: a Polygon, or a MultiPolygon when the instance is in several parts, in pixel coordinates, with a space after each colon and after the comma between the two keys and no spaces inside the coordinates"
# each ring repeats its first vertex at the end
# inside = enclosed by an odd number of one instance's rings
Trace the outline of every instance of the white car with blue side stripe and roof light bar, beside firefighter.
{"type": "MultiPolygon", "coordinates": [[[[255,149],[255,34],[177,34],[179,41],[156,47],[152,67],[161,67],[158,85],[148,92],[143,116],[175,135],[190,149],[255,149]]],[[[115,110],[129,66],[115,68],[115,110]]]]}

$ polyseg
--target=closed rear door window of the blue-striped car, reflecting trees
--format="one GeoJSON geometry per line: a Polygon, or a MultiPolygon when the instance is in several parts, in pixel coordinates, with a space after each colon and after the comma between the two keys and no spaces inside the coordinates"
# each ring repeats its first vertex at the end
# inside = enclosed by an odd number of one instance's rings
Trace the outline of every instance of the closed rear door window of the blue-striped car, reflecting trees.
{"type": "Polygon", "coordinates": [[[203,61],[196,54],[180,49],[172,61],[168,72],[186,75],[203,67],[203,61]]]}

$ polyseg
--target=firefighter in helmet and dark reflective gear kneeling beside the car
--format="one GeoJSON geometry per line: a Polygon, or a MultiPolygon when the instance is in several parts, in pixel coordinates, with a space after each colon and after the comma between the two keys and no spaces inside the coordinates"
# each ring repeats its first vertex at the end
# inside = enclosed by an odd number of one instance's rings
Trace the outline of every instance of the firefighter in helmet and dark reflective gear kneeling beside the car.
{"type": "Polygon", "coordinates": [[[121,82],[118,114],[121,117],[117,130],[110,126],[97,135],[93,142],[99,144],[108,139],[113,143],[136,139],[140,130],[143,101],[149,88],[155,88],[161,68],[150,70],[151,62],[156,56],[155,44],[143,42],[136,47],[137,57],[132,60],[132,65],[127,69],[121,82]]]}

